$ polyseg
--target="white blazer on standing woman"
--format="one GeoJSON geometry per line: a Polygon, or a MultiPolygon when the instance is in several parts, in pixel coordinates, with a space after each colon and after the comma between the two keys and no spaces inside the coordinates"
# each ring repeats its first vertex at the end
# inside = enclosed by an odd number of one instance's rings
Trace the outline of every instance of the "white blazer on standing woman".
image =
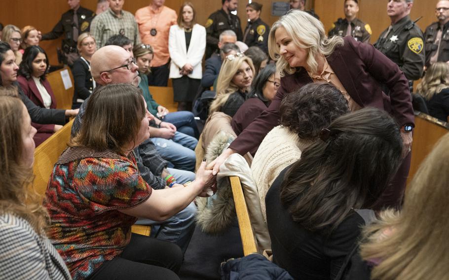
{"type": "Polygon", "coordinates": [[[201,62],[205,49],[206,29],[204,26],[199,24],[193,26],[190,45],[188,46],[188,50],[186,50],[184,29],[178,25],[172,25],[168,36],[168,51],[170,52],[171,58],[170,78],[181,78],[182,75],[179,71],[184,65],[189,63],[193,67],[193,71],[187,76],[193,79],[201,79],[203,76],[201,62]]]}

